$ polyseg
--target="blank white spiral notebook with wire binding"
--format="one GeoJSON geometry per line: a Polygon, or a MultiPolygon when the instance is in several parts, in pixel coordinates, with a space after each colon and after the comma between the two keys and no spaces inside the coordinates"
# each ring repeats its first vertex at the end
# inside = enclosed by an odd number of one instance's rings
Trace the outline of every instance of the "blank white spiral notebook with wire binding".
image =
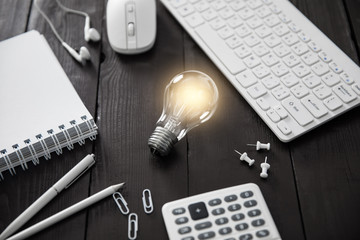
{"type": "Polygon", "coordinates": [[[46,39],[34,30],[0,42],[0,112],[0,179],[97,134],[46,39]]]}

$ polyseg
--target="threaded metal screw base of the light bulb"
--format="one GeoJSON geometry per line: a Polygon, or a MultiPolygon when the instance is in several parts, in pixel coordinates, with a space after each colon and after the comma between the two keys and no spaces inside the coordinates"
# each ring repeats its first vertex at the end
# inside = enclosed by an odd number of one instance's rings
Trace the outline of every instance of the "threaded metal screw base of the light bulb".
{"type": "Polygon", "coordinates": [[[163,127],[156,127],[154,132],[151,134],[148,145],[151,149],[152,154],[166,156],[170,150],[177,143],[177,137],[175,134],[163,127]]]}

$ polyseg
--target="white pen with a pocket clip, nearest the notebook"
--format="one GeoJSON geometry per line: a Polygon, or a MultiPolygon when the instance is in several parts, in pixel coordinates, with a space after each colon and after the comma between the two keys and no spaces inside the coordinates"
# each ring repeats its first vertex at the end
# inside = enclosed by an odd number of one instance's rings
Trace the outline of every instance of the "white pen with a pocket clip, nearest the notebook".
{"type": "Polygon", "coordinates": [[[20,214],[10,225],[1,233],[0,240],[6,239],[8,236],[16,232],[46,204],[48,204],[62,190],[68,188],[75,182],[86,170],[95,163],[95,155],[89,154],[82,159],[75,167],[73,167],[65,176],[57,181],[49,190],[47,190],[40,198],[30,205],[22,214],[20,214]]]}

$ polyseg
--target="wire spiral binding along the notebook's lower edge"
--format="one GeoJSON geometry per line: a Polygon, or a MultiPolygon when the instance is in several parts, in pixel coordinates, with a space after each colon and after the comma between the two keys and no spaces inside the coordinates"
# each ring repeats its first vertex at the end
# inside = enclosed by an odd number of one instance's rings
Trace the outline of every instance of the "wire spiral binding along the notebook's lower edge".
{"type": "Polygon", "coordinates": [[[85,139],[89,138],[91,141],[96,139],[97,126],[92,118],[86,116],[80,117],[82,123],[77,123],[75,120],[70,121],[71,128],[66,129],[65,125],[60,125],[60,132],[55,133],[53,129],[47,131],[48,136],[44,137],[42,134],[35,136],[37,142],[32,143],[30,139],[24,140],[25,146],[20,148],[18,144],[12,145],[13,152],[9,153],[6,149],[0,151],[0,180],[4,179],[4,168],[15,175],[15,167],[21,165],[23,170],[28,169],[27,161],[32,161],[34,165],[39,164],[39,158],[44,157],[46,160],[51,159],[51,152],[56,152],[60,155],[66,146],[69,150],[74,148],[74,140],[79,145],[85,144],[85,139]],[[85,125],[84,125],[85,124],[85,125]],[[86,128],[84,130],[84,128],[86,128]],[[62,135],[59,135],[62,134],[62,135]],[[76,135],[74,135],[76,134],[76,135]],[[60,136],[60,138],[59,138],[60,136]],[[2,162],[3,159],[3,162],[2,162]],[[5,164],[4,164],[5,163],[5,164]]]}

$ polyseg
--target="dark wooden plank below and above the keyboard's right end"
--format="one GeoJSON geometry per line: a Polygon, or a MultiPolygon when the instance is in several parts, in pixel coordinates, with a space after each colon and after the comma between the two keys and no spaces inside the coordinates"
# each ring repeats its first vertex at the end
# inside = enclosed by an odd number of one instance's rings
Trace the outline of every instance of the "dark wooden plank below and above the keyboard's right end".
{"type": "MultiPolygon", "coordinates": [[[[297,1],[297,7],[357,61],[342,1],[297,1]]],[[[292,142],[306,239],[357,239],[360,230],[359,108],[292,142]]]]}

